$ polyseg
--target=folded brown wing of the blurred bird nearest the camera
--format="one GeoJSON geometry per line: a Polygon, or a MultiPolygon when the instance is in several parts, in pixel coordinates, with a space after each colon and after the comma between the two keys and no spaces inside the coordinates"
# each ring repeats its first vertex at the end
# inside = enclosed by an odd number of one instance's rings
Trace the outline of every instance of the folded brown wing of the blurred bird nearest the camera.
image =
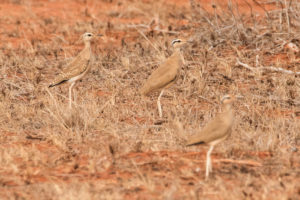
{"type": "Polygon", "coordinates": [[[226,115],[219,114],[214,120],[210,121],[201,132],[188,139],[187,145],[209,143],[223,138],[230,131],[232,124],[224,120],[226,115]]]}

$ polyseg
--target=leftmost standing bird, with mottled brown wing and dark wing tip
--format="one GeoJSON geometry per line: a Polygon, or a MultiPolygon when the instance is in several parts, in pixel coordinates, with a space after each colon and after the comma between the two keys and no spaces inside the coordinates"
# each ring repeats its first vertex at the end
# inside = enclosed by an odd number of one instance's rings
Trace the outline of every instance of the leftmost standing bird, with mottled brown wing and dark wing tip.
{"type": "MultiPolygon", "coordinates": [[[[101,35],[99,35],[101,36],[101,35]]],[[[54,87],[62,83],[70,83],[69,87],[69,107],[72,108],[72,88],[76,81],[81,79],[90,70],[90,61],[92,57],[91,40],[94,35],[92,33],[84,33],[82,39],[84,42],[84,49],[66,66],[66,68],[59,74],[53,83],[49,85],[54,87]]]]}

